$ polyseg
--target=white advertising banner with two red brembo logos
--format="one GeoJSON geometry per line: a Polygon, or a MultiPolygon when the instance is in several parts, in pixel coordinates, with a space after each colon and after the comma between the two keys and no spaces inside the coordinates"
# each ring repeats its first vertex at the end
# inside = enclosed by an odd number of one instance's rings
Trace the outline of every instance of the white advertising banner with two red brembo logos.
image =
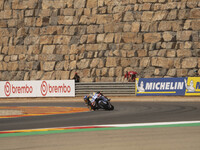
{"type": "Polygon", "coordinates": [[[0,97],[75,97],[74,80],[2,81],[0,97]]]}

